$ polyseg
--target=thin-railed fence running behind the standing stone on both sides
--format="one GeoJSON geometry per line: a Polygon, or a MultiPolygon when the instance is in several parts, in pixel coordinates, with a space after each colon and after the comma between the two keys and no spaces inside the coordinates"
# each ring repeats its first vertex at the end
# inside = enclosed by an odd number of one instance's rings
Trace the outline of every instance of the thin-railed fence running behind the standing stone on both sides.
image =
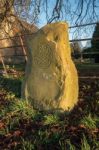
{"type": "MultiPolygon", "coordinates": [[[[82,25],[75,25],[75,26],[71,26],[69,27],[70,29],[71,28],[77,28],[77,27],[84,27],[84,26],[90,26],[90,25],[95,25],[97,24],[97,22],[93,22],[93,23],[89,23],[89,24],[82,24],[82,25]]],[[[32,34],[24,34],[25,36],[30,36],[32,34]]],[[[15,39],[15,38],[19,38],[20,40],[20,44],[19,45],[13,45],[13,46],[6,46],[6,47],[0,47],[0,50],[2,49],[16,49],[16,48],[21,48],[22,51],[23,51],[23,54],[14,54],[14,55],[1,55],[0,53],[0,61],[2,63],[2,66],[4,68],[4,71],[5,73],[7,74],[7,70],[6,70],[6,63],[4,61],[4,58],[8,59],[9,57],[12,58],[12,57],[24,57],[24,62],[27,61],[27,54],[26,54],[26,45],[24,44],[23,42],[23,37],[24,35],[17,35],[17,36],[13,36],[13,37],[5,37],[5,38],[2,38],[0,39],[0,41],[3,41],[3,40],[9,40],[9,39],[15,39]]],[[[88,40],[91,40],[92,38],[85,38],[85,39],[73,39],[73,40],[70,40],[70,42],[76,42],[76,41],[88,41],[88,40]]],[[[99,40],[99,38],[94,38],[93,40],[99,40]]],[[[99,55],[99,53],[85,53],[83,54],[83,57],[85,58],[88,58],[88,57],[95,57],[97,55],[99,55]]]]}

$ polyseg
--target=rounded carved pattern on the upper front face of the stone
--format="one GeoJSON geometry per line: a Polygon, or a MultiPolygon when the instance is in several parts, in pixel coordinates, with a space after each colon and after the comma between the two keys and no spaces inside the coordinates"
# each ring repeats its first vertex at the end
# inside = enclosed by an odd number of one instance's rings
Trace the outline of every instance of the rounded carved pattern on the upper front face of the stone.
{"type": "Polygon", "coordinates": [[[53,50],[50,45],[41,45],[34,52],[33,62],[35,67],[48,68],[53,60],[53,50]]]}

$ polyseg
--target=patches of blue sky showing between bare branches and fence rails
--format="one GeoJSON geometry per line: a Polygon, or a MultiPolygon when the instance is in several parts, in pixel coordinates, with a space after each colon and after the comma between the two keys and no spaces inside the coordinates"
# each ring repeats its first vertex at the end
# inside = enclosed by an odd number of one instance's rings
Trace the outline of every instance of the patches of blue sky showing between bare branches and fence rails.
{"type": "MultiPolygon", "coordinates": [[[[37,23],[38,27],[41,28],[42,26],[47,24],[47,19],[49,19],[52,15],[52,10],[55,6],[55,1],[56,0],[48,0],[48,6],[47,6],[47,14],[48,17],[45,14],[46,11],[46,5],[44,5],[43,8],[40,9],[40,14],[39,14],[39,22],[37,23]]],[[[63,12],[61,13],[61,18],[60,21],[66,21],[69,26],[75,25],[75,21],[77,20],[78,14],[80,14],[80,2],[81,0],[63,0],[65,2],[65,6],[63,7],[63,12]],[[69,1],[70,3],[67,3],[69,1]],[[79,7],[77,7],[77,2],[79,2],[79,7]],[[70,8],[71,11],[70,12],[70,8]],[[75,12],[76,10],[76,12],[75,12]],[[75,13],[74,13],[75,12],[75,13]]],[[[92,0],[84,0],[84,2],[92,2],[92,0]]],[[[95,0],[96,4],[99,4],[99,0],[95,0]]],[[[87,8],[86,3],[83,5],[83,12],[81,15],[82,20],[78,20],[77,24],[85,24],[85,23],[90,23],[90,22],[96,22],[96,18],[91,20],[92,15],[91,11],[92,6],[90,5],[89,8],[87,8]],[[88,13],[87,17],[84,17],[86,12],[88,13]],[[88,18],[89,17],[89,18],[88,18]],[[83,19],[84,18],[84,19],[83,19]],[[91,19],[90,19],[91,18],[91,19]]],[[[95,8],[96,9],[96,8],[95,8]]],[[[30,13],[33,13],[33,7],[31,6],[30,13]]],[[[99,19],[99,8],[96,9],[96,14],[99,19]]],[[[98,20],[99,21],[99,20],[98,20]]],[[[79,28],[71,28],[68,30],[69,33],[69,39],[84,39],[84,38],[91,38],[92,34],[94,32],[95,25],[92,26],[86,26],[86,27],[79,27],[79,28]]],[[[82,45],[85,46],[87,41],[82,42],[82,45]]]]}

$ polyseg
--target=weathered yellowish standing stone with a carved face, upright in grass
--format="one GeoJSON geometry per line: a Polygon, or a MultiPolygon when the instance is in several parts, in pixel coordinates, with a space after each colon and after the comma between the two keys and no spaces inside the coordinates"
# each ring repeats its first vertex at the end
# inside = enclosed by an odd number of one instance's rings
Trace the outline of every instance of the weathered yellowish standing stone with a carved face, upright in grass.
{"type": "Polygon", "coordinates": [[[78,76],[71,60],[66,23],[52,23],[28,38],[29,58],[22,97],[40,110],[71,110],[78,101],[78,76]]]}

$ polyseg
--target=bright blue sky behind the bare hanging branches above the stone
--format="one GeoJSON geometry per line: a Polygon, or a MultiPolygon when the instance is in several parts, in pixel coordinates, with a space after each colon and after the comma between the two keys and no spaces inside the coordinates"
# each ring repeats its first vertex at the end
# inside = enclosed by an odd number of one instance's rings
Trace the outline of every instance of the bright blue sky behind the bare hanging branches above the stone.
{"type": "MultiPolygon", "coordinates": [[[[23,0],[29,3],[22,8],[23,19],[39,27],[56,21],[66,21],[69,26],[99,21],[99,0],[23,0]]],[[[92,37],[94,26],[69,30],[70,39],[92,37]]],[[[85,42],[84,42],[85,43],[85,42]]]]}

